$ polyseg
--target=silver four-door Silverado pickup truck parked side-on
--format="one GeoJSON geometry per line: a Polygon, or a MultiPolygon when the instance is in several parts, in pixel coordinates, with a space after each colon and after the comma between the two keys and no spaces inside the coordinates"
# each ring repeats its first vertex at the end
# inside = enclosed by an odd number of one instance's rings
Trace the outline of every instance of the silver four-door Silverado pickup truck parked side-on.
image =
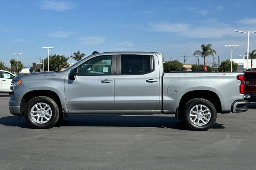
{"type": "Polygon", "coordinates": [[[14,77],[9,108],[34,128],[67,115],[175,114],[207,130],[217,113],[247,111],[244,73],[164,73],[161,53],[94,52],[60,72],[14,77]]]}

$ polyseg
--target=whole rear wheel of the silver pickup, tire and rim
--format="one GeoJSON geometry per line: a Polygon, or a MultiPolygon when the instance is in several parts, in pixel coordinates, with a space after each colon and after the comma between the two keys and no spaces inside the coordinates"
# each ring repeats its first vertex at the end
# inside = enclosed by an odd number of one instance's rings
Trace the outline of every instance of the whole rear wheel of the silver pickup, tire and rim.
{"type": "Polygon", "coordinates": [[[214,105],[202,98],[188,101],[184,108],[184,123],[193,130],[208,130],[217,119],[214,105]]]}

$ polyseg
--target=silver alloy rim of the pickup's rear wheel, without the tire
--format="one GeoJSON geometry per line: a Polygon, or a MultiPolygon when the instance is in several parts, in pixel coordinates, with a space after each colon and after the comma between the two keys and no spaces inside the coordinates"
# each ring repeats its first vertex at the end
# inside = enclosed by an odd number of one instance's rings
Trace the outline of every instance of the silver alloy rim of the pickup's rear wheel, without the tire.
{"type": "Polygon", "coordinates": [[[211,112],[205,105],[196,105],[190,110],[189,118],[194,125],[204,126],[210,121],[211,112]]]}

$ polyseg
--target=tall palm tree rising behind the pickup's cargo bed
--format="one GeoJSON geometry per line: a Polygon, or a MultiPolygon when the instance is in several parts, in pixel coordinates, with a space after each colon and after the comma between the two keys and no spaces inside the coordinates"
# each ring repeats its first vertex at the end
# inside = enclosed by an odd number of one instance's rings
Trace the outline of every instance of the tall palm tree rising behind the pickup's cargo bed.
{"type": "Polygon", "coordinates": [[[194,52],[193,55],[199,55],[200,57],[204,58],[204,69],[206,68],[206,57],[208,57],[209,55],[211,55],[212,57],[214,56],[214,53],[216,54],[216,51],[214,49],[212,49],[212,44],[208,43],[208,44],[202,44],[201,45],[201,49],[200,50],[196,50],[194,52]]]}

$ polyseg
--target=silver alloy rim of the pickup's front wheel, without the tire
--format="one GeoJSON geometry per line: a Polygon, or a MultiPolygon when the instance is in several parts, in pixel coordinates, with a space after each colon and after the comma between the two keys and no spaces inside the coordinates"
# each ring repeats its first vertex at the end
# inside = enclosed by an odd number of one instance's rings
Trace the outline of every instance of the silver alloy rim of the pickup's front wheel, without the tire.
{"type": "Polygon", "coordinates": [[[38,124],[48,122],[52,117],[52,109],[46,103],[36,103],[30,110],[32,121],[38,124]]]}

